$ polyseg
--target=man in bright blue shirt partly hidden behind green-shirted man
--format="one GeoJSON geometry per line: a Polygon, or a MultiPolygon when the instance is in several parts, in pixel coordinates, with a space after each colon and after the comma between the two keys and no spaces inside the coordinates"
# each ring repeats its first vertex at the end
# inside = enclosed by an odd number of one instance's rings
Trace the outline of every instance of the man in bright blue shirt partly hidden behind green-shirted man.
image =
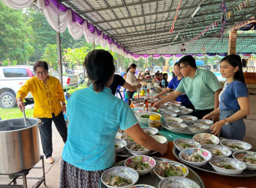
{"type": "MultiPolygon", "coordinates": [[[[175,77],[172,78],[172,80],[170,81],[170,83],[168,84],[166,89],[164,89],[161,93],[156,95],[154,98],[159,98],[162,95],[164,95],[165,93],[171,91],[172,89],[174,89],[174,90],[177,89],[177,87],[179,86],[179,83],[181,83],[181,81],[184,78],[181,73],[181,67],[180,67],[179,62],[176,62],[174,64],[173,71],[174,71],[175,77]]],[[[195,109],[195,107],[192,105],[191,101],[189,101],[189,97],[187,97],[186,93],[183,93],[182,95],[177,97],[176,101],[181,102],[182,105],[185,105],[187,108],[195,109]]]]}

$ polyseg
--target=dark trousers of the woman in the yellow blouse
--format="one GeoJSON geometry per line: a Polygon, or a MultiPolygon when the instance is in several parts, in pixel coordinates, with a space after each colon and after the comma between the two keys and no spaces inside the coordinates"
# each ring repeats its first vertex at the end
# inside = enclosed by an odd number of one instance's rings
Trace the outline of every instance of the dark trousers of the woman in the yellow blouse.
{"type": "Polygon", "coordinates": [[[42,150],[46,158],[49,158],[53,154],[52,121],[55,123],[55,126],[64,143],[67,141],[67,125],[62,111],[56,117],[53,113],[53,118],[39,119],[42,121],[42,123],[44,123],[42,126],[38,126],[41,136],[42,150]]]}

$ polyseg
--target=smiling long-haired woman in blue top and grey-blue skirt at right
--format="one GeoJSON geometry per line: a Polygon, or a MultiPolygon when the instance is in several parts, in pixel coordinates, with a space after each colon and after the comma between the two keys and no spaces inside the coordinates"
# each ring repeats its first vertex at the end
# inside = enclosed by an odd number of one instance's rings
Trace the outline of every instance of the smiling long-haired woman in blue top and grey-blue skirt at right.
{"type": "Polygon", "coordinates": [[[250,106],[240,56],[230,54],[222,58],[220,73],[226,78],[225,87],[220,93],[220,106],[205,115],[203,119],[210,119],[220,113],[220,121],[212,126],[211,133],[233,140],[243,140],[245,136],[243,118],[249,115],[250,106]]]}

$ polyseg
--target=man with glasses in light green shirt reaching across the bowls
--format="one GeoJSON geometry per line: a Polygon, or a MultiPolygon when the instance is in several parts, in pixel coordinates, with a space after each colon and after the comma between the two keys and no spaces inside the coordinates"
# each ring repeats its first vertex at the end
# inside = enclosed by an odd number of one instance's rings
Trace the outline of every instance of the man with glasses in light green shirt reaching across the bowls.
{"type": "MultiPolygon", "coordinates": [[[[172,101],[185,92],[195,107],[191,115],[201,119],[207,113],[218,108],[218,96],[222,87],[214,73],[197,68],[193,56],[184,56],[179,63],[184,76],[183,80],[174,92],[155,103],[154,107],[160,107],[163,103],[172,101]]],[[[215,117],[214,120],[218,120],[218,117],[215,117]]]]}

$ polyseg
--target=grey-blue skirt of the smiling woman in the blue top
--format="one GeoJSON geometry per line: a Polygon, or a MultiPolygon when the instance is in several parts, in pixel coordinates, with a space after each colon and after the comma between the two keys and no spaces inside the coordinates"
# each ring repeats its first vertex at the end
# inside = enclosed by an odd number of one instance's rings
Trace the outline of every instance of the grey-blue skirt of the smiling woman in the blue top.
{"type": "MultiPolygon", "coordinates": [[[[234,113],[236,113],[236,111],[220,109],[220,120],[224,120],[233,115],[234,113]]],[[[232,122],[226,126],[222,126],[220,136],[232,140],[243,140],[243,138],[245,137],[245,130],[245,122],[243,121],[243,118],[241,118],[236,122],[232,122]]]]}

